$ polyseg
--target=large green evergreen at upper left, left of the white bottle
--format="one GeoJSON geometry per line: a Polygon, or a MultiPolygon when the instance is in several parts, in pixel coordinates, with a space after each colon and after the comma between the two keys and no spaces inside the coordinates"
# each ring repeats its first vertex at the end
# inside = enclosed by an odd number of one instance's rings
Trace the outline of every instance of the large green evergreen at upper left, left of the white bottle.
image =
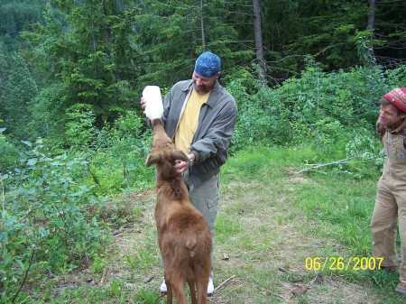
{"type": "MultiPolygon", "coordinates": [[[[60,22],[49,5],[46,24],[25,33],[34,46],[32,58],[49,72],[47,86],[59,88],[52,100],[58,103],[60,124],[67,122],[64,114],[88,105],[101,129],[134,103],[141,58],[132,38],[138,8],[130,0],[52,3],[65,18],[60,22]]],[[[37,109],[51,106],[47,96],[42,94],[43,106],[37,109]]]]}

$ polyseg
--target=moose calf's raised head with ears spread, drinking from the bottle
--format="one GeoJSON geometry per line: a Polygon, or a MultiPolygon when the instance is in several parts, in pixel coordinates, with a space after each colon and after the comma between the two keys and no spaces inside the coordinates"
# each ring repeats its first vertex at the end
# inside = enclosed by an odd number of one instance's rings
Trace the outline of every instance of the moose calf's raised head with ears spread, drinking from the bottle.
{"type": "Polygon", "coordinates": [[[175,149],[175,144],[166,134],[161,119],[152,121],[152,129],[152,154],[148,155],[145,164],[147,167],[152,164],[155,165],[157,179],[171,180],[176,178],[178,174],[173,169],[175,161],[189,161],[188,156],[184,152],[175,149]]]}

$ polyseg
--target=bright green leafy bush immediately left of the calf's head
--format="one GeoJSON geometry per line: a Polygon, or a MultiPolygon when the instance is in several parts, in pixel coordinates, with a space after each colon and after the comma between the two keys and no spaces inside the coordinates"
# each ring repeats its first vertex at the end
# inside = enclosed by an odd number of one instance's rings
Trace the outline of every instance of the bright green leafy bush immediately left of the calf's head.
{"type": "Polygon", "coordinates": [[[109,194],[152,186],[153,169],[145,166],[152,133],[151,130],[143,133],[144,124],[143,118],[128,111],[98,134],[94,143],[97,150],[88,149],[92,182],[97,184],[94,191],[109,194]]]}

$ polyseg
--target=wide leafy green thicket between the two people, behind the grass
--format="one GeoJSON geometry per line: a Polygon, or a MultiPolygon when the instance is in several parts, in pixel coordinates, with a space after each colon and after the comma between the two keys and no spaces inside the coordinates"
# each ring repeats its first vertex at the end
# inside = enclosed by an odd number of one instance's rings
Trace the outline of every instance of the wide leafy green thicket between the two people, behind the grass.
{"type": "MultiPolygon", "coordinates": [[[[309,58],[300,78],[290,78],[281,87],[259,88],[248,94],[241,85],[232,151],[253,144],[309,142],[328,149],[345,138],[348,130],[374,130],[378,100],[401,86],[405,69],[383,73],[379,66],[370,66],[326,73],[309,58]]],[[[231,91],[238,89],[231,87],[231,91]]]]}

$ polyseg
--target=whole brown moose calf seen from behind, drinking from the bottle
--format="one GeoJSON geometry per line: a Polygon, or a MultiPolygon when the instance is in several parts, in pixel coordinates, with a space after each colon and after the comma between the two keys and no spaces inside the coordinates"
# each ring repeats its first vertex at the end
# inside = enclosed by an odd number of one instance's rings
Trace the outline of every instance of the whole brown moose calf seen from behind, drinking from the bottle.
{"type": "Polygon", "coordinates": [[[155,164],[156,168],[155,221],[168,290],[167,303],[172,303],[172,293],[178,304],[188,303],[185,292],[188,282],[191,302],[204,304],[211,272],[212,235],[204,217],[190,203],[182,176],[173,169],[175,161],[188,161],[187,155],[175,150],[161,119],[155,119],[152,127],[152,154],[148,155],[146,166],[155,164]]]}

